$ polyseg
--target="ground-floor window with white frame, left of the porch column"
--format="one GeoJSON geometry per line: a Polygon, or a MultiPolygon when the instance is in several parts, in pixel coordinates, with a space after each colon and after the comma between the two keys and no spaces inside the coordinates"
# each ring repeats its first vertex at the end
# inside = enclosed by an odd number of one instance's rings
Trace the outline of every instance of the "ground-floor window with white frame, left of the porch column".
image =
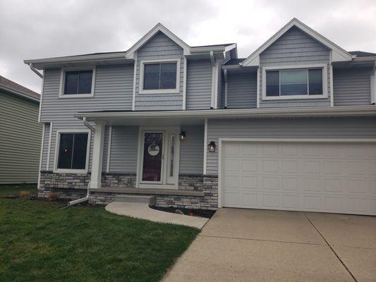
{"type": "Polygon", "coordinates": [[[89,133],[58,133],[58,171],[87,170],[87,142],[89,133]]]}

